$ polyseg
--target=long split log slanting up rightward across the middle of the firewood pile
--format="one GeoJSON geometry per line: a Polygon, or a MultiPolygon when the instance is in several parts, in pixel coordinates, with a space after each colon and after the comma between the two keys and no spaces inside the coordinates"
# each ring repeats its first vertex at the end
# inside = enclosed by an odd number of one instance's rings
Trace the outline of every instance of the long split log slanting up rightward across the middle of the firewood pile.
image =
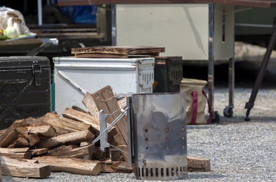
{"type": "Polygon", "coordinates": [[[72,133],[63,134],[63,135],[41,140],[41,143],[39,143],[37,147],[50,148],[50,147],[56,147],[56,146],[64,145],[68,143],[71,143],[71,144],[81,143],[85,140],[93,140],[94,137],[95,137],[94,134],[92,134],[88,130],[77,131],[77,132],[72,132],[72,133]]]}

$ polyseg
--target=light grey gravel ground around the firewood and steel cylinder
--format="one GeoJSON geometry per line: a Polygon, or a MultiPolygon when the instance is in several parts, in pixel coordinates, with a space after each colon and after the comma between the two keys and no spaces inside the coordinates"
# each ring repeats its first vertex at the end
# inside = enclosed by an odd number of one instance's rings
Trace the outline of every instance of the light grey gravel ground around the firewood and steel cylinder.
{"type": "MultiPolygon", "coordinates": [[[[211,172],[188,172],[184,181],[276,181],[276,92],[262,89],[250,122],[244,121],[244,104],[251,89],[235,89],[233,118],[217,125],[188,126],[188,155],[210,158],[211,172]]],[[[222,115],[228,89],[216,89],[215,110],[222,115]]],[[[53,172],[48,179],[3,176],[8,181],[137,181],[134,174],[83,176],[53,172]]],[[[179,180],[180,181],[180,180],[179,180]]]]}

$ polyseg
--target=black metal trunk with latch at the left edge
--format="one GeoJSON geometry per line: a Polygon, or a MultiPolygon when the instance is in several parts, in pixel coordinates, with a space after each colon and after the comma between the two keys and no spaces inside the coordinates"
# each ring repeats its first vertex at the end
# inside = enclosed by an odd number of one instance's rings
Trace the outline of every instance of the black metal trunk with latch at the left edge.
{"type": "Polygon", "coordinates": [[[0,129],[51,111],[50,84],[47,57],[0,57],[0,129]]]}

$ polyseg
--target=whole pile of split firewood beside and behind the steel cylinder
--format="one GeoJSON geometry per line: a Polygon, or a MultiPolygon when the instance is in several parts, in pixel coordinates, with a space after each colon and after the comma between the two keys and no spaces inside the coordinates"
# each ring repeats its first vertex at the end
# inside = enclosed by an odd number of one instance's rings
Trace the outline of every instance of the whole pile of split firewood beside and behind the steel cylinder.
{"type": "MultiPolygon", "coordinates": [[[[107,86],[95,93],[86,93],[82,102],[89,112],[67,107],[62,116],[53,112],[41,118],[16,120],[8,129],[0,131],[2,174],[45,178],[50,172],[87,175],[133,172],[127,154],[113,148],[102,152],[99,142],[92,144],[100,133],[99,110],[114,113],[107,118],[110,124],[121,113],[120,108],[126,107],[125,100],[117,102],[107,86]]],[[[121,118],[108,131],[108,142],[128,152],[126,125],[126,118],[121,118]]],[[[210,171],[210,160],[190,158],[188,170],[210,171]]]]}

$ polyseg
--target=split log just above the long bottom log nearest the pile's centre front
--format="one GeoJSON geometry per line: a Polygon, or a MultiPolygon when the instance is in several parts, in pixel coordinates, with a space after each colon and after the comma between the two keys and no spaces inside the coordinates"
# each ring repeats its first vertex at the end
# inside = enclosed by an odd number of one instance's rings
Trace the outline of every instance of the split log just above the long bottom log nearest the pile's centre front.
{"type": "Polygon", "coordinates": [[[92,154],[95,151],[95,143],[82,147],[61,146],[50,150],[48,156],[59,156],[59,158],[81,157],[92,154]]]}

